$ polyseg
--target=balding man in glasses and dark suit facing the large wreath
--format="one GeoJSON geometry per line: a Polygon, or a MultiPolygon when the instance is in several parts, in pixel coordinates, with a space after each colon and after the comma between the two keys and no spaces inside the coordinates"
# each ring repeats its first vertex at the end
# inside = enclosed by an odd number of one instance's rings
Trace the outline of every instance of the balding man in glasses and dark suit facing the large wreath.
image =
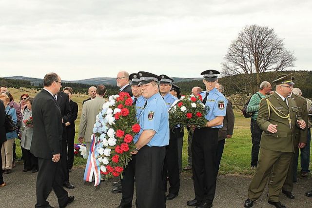
{"type": "Polygon", "coordinates": [[[61,87],[61,79],[56,73],[46,74],[43,78],[43,90],[32,104],[34,134],[30,152],[38,157],[35,208],[51,208],[46,201],[52,188],[58,197],[59,207],[64,208],[74,201],[74,196],[62,186],[60,164],[62,142],[62,117],[55,95],[61,87]]]}

